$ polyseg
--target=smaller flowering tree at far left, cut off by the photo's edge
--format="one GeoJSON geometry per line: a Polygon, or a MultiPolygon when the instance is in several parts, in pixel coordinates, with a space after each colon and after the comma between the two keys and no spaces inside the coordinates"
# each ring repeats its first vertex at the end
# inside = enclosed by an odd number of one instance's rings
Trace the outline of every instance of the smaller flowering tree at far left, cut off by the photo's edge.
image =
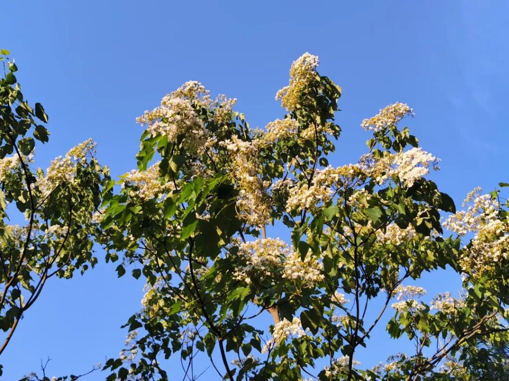
{"type": "MultiPolygon", "coordinates": [[[[23,314],[37,301],[50,278],[71,278],[94,267],[93,215],[101,204],[108,170],[94,158],[89,139],[43,171],[34,168],[36,140],[48,141],[48,122],[40,103],[24,100],[14,61],[2,50],[0,61],[0,355],[23,314]],[[19,224],[12,224],[18,222],[19,224]]],[[[2,367],[0,366],[0,375],[2,367]]]]}

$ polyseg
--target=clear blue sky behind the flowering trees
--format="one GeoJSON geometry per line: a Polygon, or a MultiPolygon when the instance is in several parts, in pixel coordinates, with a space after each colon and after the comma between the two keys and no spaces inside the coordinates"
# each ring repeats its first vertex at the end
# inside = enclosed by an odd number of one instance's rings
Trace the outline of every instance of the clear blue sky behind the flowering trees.
{"type": "MultiPolygon", "coordinates": [[[[309,51],[320,57],[320,73],[343,87],[343,134],[331,162],[356,161],[369,138],[362,119],[405,102],[416,112],[411,131],[442,159],[432,178],[461,205],[473,187],[509,181],[508,8],[503,1],[3,2],[0,48],[16,59],[25,98],[49,114],[50,142],[37,148],[44,168],[89,137],[114,177],[133,168],[142,132],[136,116],[190,79],[238,98],[237,110],[263,127],[284,115],[274,95],[292,61],[309,51]]],[[[51,375],[116,356],[125,337],[119,327],[139,308],[142,284],[118,280],[114,269],[100,263],[48,284],[0,359],[4,378],[18,379],[48,356],[51,375]]],[[[446,273],[424,283],[430,292],[456,284],[446,273]]],[[[398,351],[395,342],[374,344],[398,351]]]]}

